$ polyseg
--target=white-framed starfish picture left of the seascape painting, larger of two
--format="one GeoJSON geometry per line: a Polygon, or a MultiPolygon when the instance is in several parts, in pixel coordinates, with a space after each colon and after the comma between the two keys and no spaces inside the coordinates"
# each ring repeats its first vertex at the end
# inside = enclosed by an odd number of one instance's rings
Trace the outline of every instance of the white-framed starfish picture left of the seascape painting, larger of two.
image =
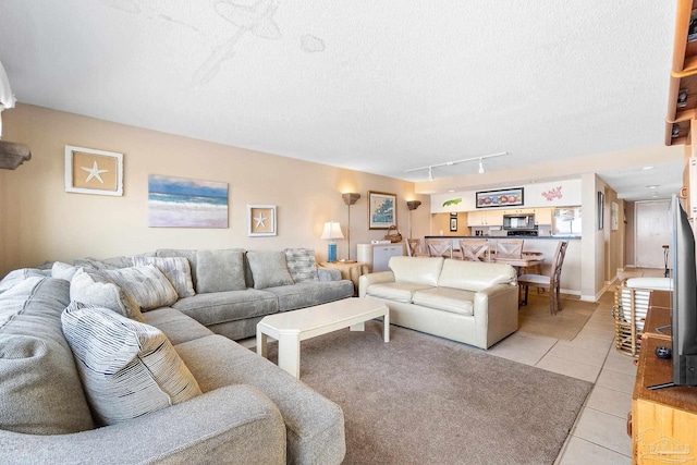
{"type": "Polygon", "coordinates": [[[123,195],[123,154],[66,145],[65,192],[123,195]]]}

